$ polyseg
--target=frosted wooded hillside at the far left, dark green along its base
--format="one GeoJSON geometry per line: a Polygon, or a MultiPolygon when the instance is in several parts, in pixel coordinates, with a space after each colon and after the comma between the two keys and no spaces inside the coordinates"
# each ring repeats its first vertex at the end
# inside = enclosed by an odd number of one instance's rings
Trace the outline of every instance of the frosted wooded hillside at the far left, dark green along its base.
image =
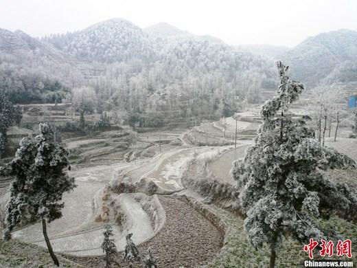
{"type": "Polygon", "coordinates": [[[60,100],[81,79],[73,60],[52,45],[0,29],[0,87],[12,102],[60,100]]]}

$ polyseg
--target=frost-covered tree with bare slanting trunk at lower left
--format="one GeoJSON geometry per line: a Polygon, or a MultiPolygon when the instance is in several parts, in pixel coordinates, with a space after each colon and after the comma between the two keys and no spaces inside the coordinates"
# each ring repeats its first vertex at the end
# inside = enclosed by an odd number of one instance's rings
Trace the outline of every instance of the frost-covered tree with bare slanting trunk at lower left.
{"type": "Polygon", "coordinates": [[[43,236],[55,265],[59,265],[49,238],[46,221],[50,223],[62,216],[65,206],[62,194],[76,187],[74,178],[65,168],[70,168],[69,151],[58,144],[47,124],[40,124],[36,137],[21,139],[20,148],[12,161],[0,169],[0,175],[14,177],[10,186],[10,200],[6,212],[6,229],[3,236],[10,239],[14,227],[41,221],[43,236]]]}

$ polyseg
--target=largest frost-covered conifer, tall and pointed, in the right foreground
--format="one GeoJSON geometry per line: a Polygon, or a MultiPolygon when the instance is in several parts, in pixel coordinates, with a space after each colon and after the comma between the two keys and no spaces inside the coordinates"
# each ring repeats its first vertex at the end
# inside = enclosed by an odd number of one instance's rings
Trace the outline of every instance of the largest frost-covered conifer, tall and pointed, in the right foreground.
{"type": "Polygon", "coordinates": [[[270,267],[275,267],[276,249],[283,236],[300,241],[324,238],[314,221],[325,207],[341,202],[346,213],[355,213],[356,195],[347,186],[324,179],[319,169],[356,167],[349,157],[323,147],[313,138],[306,118],[293,120],[288,109],[303,91],[303,85],[286,76],[277,62],[277,95],[262,107],[262,125],[255,144],[243,160],[235,161],[231,173],[237,180],[238,197],[246,219],[244,228],[254,247],[270,247],[270,267]],[[336,202],[336,203],[334,203],[336,202]]]}

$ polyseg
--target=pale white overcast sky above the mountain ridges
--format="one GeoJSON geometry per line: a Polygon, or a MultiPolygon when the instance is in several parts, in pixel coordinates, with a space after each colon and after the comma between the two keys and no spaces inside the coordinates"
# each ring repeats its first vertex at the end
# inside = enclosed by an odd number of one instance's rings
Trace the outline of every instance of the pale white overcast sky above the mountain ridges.
{"type": "Polygon", "coordinates": [[[31,36],[82,30],[107,19],[166,22],[231,45],[295,46],[308,36],[357,30],[357,0],[0,0],[0,27],[31,36]]]}

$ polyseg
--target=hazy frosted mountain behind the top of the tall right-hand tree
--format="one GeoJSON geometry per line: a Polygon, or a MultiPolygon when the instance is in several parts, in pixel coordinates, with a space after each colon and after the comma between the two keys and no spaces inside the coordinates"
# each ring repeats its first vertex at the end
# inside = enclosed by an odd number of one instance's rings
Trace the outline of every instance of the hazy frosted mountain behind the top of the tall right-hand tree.
{"type": "Polygon", "coordinates": [[[294,66],[296,79],[310,86],[356,81],[357,32],[338,30],[309,37],[281,58],[294,66]]]}

